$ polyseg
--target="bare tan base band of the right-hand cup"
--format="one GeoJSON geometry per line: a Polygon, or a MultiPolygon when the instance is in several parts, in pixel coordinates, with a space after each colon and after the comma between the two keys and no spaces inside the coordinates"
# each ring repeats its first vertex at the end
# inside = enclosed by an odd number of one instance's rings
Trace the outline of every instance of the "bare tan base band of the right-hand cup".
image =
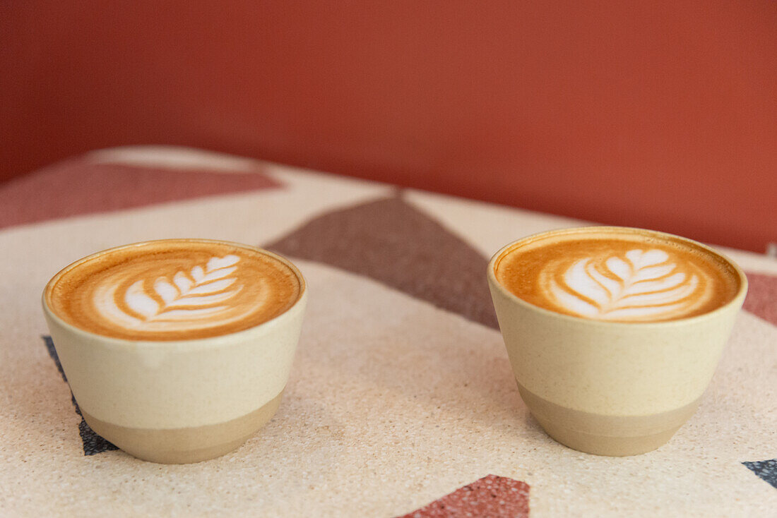
{"type": "Polygon", "coordinates": [[[663,446],[699,407],[701,398],[653,415],[601,415],[549,402],[518,384],[521,398],[545,432],[564,446],[587,454],[624,457],[663,446]]]}

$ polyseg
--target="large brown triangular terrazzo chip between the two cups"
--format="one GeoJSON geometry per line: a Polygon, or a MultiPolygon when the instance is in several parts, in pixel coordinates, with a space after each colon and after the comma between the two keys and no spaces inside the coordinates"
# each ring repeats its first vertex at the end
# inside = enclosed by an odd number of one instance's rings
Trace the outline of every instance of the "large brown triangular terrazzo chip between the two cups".
{"type": "Polygon", "coordinates": [[[488,259],[399,196],[323,214],[266,248],[371,277],[499,329],[488,259]]]}

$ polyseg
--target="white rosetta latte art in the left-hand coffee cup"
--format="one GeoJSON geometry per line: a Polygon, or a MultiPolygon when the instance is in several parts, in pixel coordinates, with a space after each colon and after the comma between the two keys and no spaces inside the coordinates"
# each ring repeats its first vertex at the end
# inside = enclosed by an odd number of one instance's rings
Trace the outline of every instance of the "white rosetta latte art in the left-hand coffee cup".
{"type": "Polygon", "coordinates": [[[172,278],[136,279],[132,270],[126,276],[110,276],[94,290],[94,307],[127,329],[199,329],[231,322],[253,311],[230,304],[242,290],[234,275],[239,261],[233,255],[213,257],[172,278]]]}

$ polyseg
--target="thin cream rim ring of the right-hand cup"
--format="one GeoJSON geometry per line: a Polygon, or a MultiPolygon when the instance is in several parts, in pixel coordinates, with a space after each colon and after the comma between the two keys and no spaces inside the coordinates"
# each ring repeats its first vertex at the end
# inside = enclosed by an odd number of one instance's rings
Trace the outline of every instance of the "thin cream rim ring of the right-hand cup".
{"type": "Polygon", "coordinates": [[[486,273],[486,276],[488,277],[488,280],[491,286],[497,289],[500,292],[500,294],[509,298],[511,301],[517,302],[517,304],[520,304],[524,308],[529,308],[532,311],[537,311],[542,315],[547,315],[552,318],[561,318],[562,320],[566,320],[568,322],[578,322],[578,323],[586,322],[587,324],[590,324],[590,325],[606,325],[606,326],[624,327],[624,328],[633,326],[633,325],[639,325],[643,327],[648,327],[648,326],[671,327],[673,325],[685,325],[688,322],[700,322],[702,320],[706,320],[709,318],[715,318],[715,316],[720,314],[720,312],[726,311],[728,308],[732,307],[733,305],[741,306],[742,303],[744,302],[744,297],[747,294],[747,276],[745,275],[744,271],[740,268],[740,266],[733,261],[733,259],[730,259],[722,252],[718,252],[716,249],[713,249],[708,245],[704,245],[703,243],[694,241],[693,239],[690,239],[690,238],[684,238],[680,235],[674,235],[674,234],[669,234],[667,232],[661,232],[661,231],[655,231],[655,230],[649,230],[646,228],[637,228],[637,227],[588,225],[584,227],[556,228],[549,231],[536,232],[535,234],[527,235],[527,236],[524,236],[523,238],[516,239],[513,242],[507,243],[507,245],[504,245],[502,248],[500,248],[491,257],[488,263],[488,271],[486,273]],[[734,294],[734,296],[731,298],[731,300],[726,302],[726,304],[723,304],[722,306],[720,306],[720,308],[713,309],[713,311],[707,311],[706,313],[702,313],[701,315],[694,315],[692,317],[674,318],[673,320],[660,320],[655,322],[650,322],[650,321],[617,322],[617,321],[609,321],[609,320],[597,320],[594,318],[584,318],[584,317],[578,317],[575,315],[566,315],[565,313],[559,313],[557,311],[552,311],[550,309],[541,308],[538,305],[531,304],[531,302],[524,301],[521,297],[517,297],[517,295],[510,292],[510,290],[507,290],[507,288],[504,287],[502,283],[499,282],[499,280],[497,280],[497,274],[495,269],[496,263],[509,250],[514,249],[517,246],[523,245],[525,243],[532,242],[537,239],[546,238],[552,235],[584,234],[592,231],[611,232],[613,234],[618,232],[623,232],[623,231],[629,231],[636,234],[650,235],[657,238],[671,238],[676,241],[685,242],[688,245],[695,246],[696,248],[699,248],[704,250],[705,252],[708,252],[712,256],[716,256],[717,258],[721,259],[722,262],[725,262],[728,266],[730,266],[731,269],[733,269],[734,273],[737,274],[737,277],[739,280],[739,289],[737,290],[737,293],[734,294]]]}

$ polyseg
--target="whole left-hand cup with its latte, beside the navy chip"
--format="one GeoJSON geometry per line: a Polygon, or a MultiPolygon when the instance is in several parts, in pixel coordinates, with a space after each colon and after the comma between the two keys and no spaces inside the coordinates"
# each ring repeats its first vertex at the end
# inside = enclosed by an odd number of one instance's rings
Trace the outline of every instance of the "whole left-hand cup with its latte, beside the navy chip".
{"type": "Polygon", "coordinates": [[[235,450],[273,417],[306,299],[272,252],[166,239],[72,263],[43,308],[86,423],[134,457],[181,464],[235,450]]]}

